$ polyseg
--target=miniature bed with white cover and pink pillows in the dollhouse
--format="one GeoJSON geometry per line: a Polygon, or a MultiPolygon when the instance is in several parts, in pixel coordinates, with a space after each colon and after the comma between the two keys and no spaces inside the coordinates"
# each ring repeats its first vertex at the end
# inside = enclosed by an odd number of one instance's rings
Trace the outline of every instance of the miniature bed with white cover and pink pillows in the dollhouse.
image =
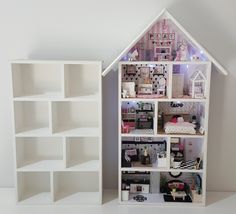
{"type": "Polygon", "coordinates": [[[194,124],[190,123],[189,114],[181,114],[183,120],[170,122],[174,114],[164,115],[164,131],[166,134],[196,134],[194,124]]]}

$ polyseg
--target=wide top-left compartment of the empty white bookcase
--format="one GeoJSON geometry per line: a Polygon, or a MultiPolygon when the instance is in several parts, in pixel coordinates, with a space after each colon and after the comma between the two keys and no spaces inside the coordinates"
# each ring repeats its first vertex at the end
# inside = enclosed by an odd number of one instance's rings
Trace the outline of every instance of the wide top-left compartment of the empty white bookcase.
{"type": "Polygon", "coordinates": [[[60,64],[13,63],[13,96],[62,96],[60,64]]]}

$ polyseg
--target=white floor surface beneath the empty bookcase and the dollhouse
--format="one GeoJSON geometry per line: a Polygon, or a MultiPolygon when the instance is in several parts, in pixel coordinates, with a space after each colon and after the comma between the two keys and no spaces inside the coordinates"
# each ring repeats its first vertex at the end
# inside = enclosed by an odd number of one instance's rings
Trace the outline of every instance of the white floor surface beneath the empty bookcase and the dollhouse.
{"type": "Polygon", "coordinates": [[[107,190],[104,192],[104,204],[102,206],[25,206],[15,205],[15,192],[12,188],[0,189],[0,213],[1,214],[235,214],[235,192],[208,192],[207,206],[186,207],[147,207],[147,206],[123,206],[117,203],[117,193],[107,190]]]}

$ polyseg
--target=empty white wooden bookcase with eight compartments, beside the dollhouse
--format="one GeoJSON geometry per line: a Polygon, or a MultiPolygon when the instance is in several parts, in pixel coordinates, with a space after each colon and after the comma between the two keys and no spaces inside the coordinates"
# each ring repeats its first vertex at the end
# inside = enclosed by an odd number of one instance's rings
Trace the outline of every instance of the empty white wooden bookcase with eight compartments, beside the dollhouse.
{"type": "Polygon", "coordinates": [[[100,61],[12,62],[20,204],[102,203],[100,61]]]}

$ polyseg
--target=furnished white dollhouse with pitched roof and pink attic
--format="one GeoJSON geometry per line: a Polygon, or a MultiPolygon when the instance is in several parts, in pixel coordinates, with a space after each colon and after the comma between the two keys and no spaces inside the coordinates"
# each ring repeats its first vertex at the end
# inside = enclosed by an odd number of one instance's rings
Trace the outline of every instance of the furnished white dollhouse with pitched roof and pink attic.
{"type": "Polygon", "coordinates": [[[117,63],[119,202],[204,206],[211,66],[227,71],[167,10],[103,76],[117,63]]]}

